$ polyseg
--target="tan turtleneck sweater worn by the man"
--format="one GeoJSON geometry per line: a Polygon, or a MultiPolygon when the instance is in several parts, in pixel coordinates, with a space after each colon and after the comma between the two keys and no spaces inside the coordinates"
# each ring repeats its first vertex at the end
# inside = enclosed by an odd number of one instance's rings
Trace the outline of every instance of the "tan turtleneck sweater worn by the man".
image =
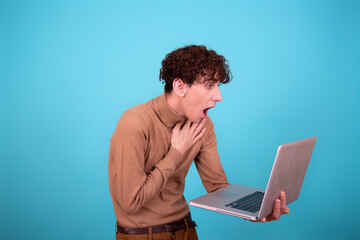
{"type": "Polygon", "coordinates": [[[183,196],[185,177],[193,161],[207,192],[229,185],[211,119],[207,117],[204,136],[184,155],[170,143],[172,128],[181,120],[184,117],[168,105],[165,93],[128,109],[120,118],[108,166],[120,225],[155,226],[185,217],[189,213],[183,196]]]}

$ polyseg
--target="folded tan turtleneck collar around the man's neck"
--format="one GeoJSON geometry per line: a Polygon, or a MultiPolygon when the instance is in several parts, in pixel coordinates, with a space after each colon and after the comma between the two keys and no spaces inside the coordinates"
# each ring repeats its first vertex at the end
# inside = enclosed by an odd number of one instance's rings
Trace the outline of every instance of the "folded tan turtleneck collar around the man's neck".
{"type": "Polygon", "coordinates": [[[174,127],[177,122],[186,119],[185,116],[181,116],[174,109],[172,109],[166,100],[165,92],[160,96],[153,99],[151,104],[156,116],[167,127],[174,127]]]}

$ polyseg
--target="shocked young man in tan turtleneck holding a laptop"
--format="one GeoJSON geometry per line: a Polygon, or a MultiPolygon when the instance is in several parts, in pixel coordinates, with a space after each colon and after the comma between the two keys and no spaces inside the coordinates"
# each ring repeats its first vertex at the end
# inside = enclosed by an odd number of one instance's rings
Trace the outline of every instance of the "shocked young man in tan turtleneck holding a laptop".
{"type": "MultiPolygon", "coordinates": [[[[207,192],[228,186],[208,110],[231,80],[225,58],[205,46],[186,46],[162,61],[165,92],[128,109],[111,138],[109,184],[117,218],[116,239],[197,239],[183,196],[194,161],[207,192]]],[[[288,213],[276,200],[277,220],[288,213]]]]}

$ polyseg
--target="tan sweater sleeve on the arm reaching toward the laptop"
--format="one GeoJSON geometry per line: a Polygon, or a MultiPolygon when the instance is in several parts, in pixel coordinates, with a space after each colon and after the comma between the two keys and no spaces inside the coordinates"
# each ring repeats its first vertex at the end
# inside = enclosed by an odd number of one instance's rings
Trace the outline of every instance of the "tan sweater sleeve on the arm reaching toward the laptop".
{"type": "Polygon", "coordinates": [[[201,149],[195,165],[206,191],[213,192],[229,185],[217,151],[214,124],[207,119],[207,133],[201,140],[201,149]]]}

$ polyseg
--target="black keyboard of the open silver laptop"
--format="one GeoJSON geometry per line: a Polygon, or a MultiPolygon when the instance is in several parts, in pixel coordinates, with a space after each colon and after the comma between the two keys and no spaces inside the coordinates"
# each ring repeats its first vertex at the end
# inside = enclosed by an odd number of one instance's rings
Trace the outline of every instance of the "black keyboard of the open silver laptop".
{"type": "Polygon", "coordinates": [[[257,191],[232,203],[226,204],[225,206],[254,213],[260,210],[263,198],[264,193],[257,191]]]}

